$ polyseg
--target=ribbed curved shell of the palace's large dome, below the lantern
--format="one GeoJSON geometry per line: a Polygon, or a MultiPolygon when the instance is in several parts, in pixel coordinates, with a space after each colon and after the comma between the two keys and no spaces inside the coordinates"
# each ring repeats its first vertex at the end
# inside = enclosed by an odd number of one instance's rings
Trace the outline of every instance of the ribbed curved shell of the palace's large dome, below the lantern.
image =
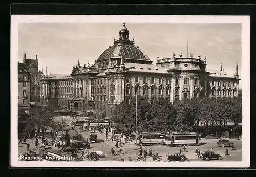
{"type": "Polygon", "coordinates": [[[113,45],[106,49],[98,58],[98,61],[109,59],[110,57],[123,57],[125,59],[140,59],[140,60],[150,60],[145,52],[143,52],[139,47],[129,44],[113,45]]]}

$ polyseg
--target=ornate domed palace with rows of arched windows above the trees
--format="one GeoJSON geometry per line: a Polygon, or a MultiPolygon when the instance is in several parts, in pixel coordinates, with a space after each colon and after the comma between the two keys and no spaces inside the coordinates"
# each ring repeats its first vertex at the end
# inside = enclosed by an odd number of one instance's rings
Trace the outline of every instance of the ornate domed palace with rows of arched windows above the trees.
{"type": "Polygon", "coordinates": [[[94,65],[78,61],[70,75],[46,75],[41,80],[41,102],[51,102],[57,108],[106,112],[129,102],[135,94],[147,97],[151,103],[158,98],[170,102],[192,97],[236,97],[238,95],[238,65],[230,75],[220,70],[206,70],[203,59],[190,53],[185,58],[173,53],[169,58],[157,58],[156,64],[129,39],[125,23],[119,39],[106,49],[94,65]]]}

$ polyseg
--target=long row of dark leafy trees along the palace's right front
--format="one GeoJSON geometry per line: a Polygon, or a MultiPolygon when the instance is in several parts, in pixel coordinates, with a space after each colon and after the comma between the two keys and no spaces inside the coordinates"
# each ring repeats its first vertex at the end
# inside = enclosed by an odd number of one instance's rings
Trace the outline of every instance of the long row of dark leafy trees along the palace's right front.
{"type": "MultiPolygon", "coordinates": [[[[121,103],[114,109],[112,120],[123,132],[135,131],[136,99],[121,103]]],[[[137,131],[191,131],[203,126],[225,126],[228,121],[236,125],[242,121],[242,98],[193,98],[175,104],[158,99],[150,104],[137,97],[137,131]]]]}

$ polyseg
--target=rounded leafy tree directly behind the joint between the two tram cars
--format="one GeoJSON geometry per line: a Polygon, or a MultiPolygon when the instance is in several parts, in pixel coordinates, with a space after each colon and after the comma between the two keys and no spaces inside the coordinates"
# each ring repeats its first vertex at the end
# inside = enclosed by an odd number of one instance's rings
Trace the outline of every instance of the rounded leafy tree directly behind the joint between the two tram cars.
{"type": "Polygon", "coordinates": [[[149,131],[174,130],[176,110],[172,103],[166,99],[158,99],[151,105],[151,116],[148,116],[149,131]]]}

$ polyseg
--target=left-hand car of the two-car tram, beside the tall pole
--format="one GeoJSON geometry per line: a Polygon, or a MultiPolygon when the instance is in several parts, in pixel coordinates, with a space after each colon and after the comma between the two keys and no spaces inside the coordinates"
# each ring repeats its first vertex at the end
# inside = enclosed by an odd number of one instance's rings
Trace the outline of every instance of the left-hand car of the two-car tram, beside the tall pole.
{"type": "Polygon", "coordinates": [[[136,145],[158,145],[165,142],[166,132],[142,132],[136,134],[135,144],[136,145]]]}

